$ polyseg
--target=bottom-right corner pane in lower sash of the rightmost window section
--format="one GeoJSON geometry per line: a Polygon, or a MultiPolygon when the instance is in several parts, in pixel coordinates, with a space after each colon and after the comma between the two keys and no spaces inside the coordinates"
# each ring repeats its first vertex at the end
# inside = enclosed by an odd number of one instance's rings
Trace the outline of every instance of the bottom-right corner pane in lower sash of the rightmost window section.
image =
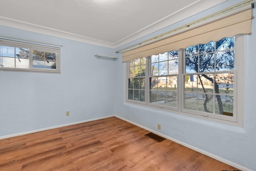
{"type": "Polygon", "coordinates": [[[234,112],[234,96],[232,95],[216,95],[215,96],[215,113],[233,116],[234,112]]]}

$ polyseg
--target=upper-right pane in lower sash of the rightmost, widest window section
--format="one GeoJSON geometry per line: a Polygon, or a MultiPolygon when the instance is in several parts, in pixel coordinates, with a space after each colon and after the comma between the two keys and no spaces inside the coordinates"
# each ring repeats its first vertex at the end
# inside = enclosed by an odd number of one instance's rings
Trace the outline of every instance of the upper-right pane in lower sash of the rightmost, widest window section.
{"type": "Polygon", "coordinates": [[[218,89],[216,93],[234,94],[234,73],[215,74],[218,89]]]}

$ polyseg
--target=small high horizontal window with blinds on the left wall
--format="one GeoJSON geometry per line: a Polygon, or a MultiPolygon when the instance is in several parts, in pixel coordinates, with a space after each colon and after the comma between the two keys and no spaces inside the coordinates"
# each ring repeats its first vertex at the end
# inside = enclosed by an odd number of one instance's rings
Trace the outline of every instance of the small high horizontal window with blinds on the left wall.
{"type": "Polygon", "coordinates": [[[60,73],[60,48],[0,40],[0,70],[60,73]]]}

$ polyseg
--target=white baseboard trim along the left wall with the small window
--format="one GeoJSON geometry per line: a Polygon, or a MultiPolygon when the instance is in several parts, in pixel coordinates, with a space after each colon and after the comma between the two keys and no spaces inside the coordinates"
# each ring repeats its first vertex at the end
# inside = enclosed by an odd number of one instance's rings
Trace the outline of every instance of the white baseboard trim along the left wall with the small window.
{"type": "Polygon", "coordinates": [[[75,124],[78,124],[78,123],[96,121],[96,120],[99,120],[99,119],[105,119],[105,118],[114,117],[114,116],[115,115],[109,115],[109,116],[98,117],[98,118],[94,118],[94,119],[88,119],[88,120],[84,120],[84,121],[78,121],[78,122],[66,123],[66,124],[63,124],[63,125],[56,125],[56,126],[52,126],[52,127],[46,127],[46,128],[42,128],[42,129],[35,129],[35,130],[32,130],[32,131],[26,131],[26,132],[21,132],[21,133],[14,133],[14,134],[11,134],[11,135],[4,135],[4,136],[1,136],[0,139],[16,137],[16,136],[19,136],[19,135],[25,135],[25,134],[34,133],[34,132],[46,131],[46,130],[49,130],[49,129],[65,127],[65,126],[69,126],[69,125],[75,125],[75,124]]]}

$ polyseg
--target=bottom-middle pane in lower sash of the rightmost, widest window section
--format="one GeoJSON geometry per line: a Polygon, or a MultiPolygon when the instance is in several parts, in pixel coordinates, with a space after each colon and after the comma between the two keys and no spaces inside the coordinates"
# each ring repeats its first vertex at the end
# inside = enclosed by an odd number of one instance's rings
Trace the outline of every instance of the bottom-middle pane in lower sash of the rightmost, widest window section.
{"type": "Polygon", "coordinates": [[[198,94],[198,111],[213,113],[212,94],[198,94]]]}

